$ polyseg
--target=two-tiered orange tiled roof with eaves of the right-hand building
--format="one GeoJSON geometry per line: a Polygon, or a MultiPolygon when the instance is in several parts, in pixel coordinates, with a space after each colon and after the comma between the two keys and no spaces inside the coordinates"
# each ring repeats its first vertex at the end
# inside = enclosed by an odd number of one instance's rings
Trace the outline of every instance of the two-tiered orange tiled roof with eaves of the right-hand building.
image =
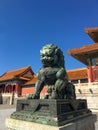
{"type": "Polygon", "coordinates": [[[87,59],[94,55],[98,55],[98,27],[85,28],[85,32],[95,41],[95,43],[68,50],[68,54],[78,61],[88,65],[87,59]]]}

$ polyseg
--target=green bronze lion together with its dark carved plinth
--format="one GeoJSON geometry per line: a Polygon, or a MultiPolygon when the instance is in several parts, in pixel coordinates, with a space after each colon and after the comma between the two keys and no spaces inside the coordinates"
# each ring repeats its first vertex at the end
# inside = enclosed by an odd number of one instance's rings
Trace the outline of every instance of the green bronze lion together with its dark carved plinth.
{"type": "Polygon", "coordinates": [[[37,74],[35,92],[27,99],[17,101],[16,112],[11,114],[11,118],[61,126],[90,115],[86,100],[76,99],[75,87],[68,81],[62,51],[48,44],[40,55],[42,68],[37,74]],[[44,86],[48,94],[45,99],[40,99],[44,86]]]}

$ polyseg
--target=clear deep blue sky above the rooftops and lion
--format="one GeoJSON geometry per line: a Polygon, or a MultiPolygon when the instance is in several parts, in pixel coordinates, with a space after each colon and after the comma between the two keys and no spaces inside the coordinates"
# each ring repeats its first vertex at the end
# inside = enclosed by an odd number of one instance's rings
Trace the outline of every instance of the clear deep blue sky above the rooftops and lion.
{"type": "Polygon", "coordinates": [[[98,27],[98,0],[0,0],[0,75],[28,65],[36,73],[48,43],[62,49],[67,70],[85,67],[67,51],[94,43],[86,27],[98,27]]]}

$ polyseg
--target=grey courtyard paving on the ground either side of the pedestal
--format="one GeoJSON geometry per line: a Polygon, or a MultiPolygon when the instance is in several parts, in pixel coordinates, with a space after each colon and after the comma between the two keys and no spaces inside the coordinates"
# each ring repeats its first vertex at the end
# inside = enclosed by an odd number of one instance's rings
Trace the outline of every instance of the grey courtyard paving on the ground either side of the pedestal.
{"type": "MultiPolygon", "coordinates": [[[[5,119],[11,115],[15,111],[15,106],[5,106],[0,105],[0,130],[7,130],[5,127],[5,119]]],[[[94,114],[97,114],[98,112],[93,112],[94,114]]],[[[95,130],[98,130],[98,121],[95,123],[95,130]]]]}

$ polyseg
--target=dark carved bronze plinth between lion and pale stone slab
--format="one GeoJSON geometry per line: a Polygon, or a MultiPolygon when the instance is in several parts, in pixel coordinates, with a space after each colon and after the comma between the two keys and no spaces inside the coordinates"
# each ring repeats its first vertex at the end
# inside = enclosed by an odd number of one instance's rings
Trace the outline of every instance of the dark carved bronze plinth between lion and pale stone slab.
{"type": "Polygon", "coordinates": [[[29,99],[18,100],[16,112],[11,115],[11,118],[62,126],[91,114],[86,100],[29,99]]]}

